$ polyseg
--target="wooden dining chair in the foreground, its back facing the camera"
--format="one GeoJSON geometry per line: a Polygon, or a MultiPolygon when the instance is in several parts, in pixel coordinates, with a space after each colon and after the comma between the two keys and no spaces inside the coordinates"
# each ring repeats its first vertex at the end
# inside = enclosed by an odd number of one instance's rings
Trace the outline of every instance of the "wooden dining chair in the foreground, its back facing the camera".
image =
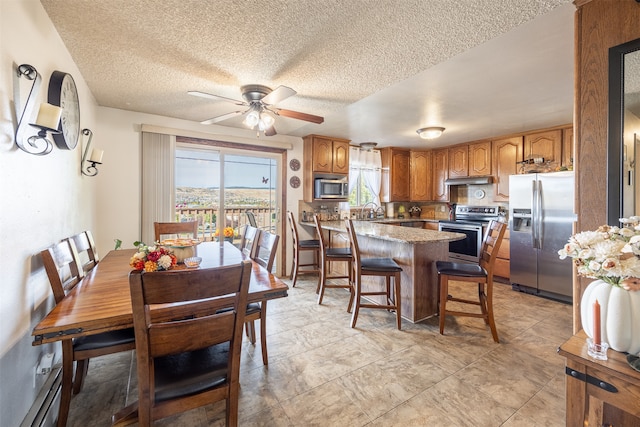
{"type": "Polygon", "coordinates": [[[238,424],[242,325],[251,261],[129,275],[136,335],[138,401],[113,425],[152,422],[226,401],[226,425],[238,424]],[[215,286],[211,286],[215,284],[215,286]]]}

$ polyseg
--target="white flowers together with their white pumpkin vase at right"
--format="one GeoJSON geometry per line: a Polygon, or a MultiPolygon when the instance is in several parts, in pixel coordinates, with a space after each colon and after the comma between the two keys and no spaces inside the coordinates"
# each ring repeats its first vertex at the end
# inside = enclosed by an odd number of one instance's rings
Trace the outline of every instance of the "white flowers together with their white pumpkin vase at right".
{"type": "Polygon", "coordinates": [[[620,222],[622,227],[602,225],[576,233],[558,255],[573,258],[579,276],[596,279],[580,300],[582,328],[592,340],[589,348],[602,342],[616,351],[637,353],[640,292],[633,291],[640,290],[640,217],[620,222]]]}

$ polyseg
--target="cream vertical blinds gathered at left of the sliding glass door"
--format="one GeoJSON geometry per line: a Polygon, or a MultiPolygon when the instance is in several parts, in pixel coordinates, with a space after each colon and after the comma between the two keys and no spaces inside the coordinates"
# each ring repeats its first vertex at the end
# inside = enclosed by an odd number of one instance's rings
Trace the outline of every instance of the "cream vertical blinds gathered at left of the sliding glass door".
{"type": "Polygon", "coordinates": [[[175,135],[142,132],[141,239],[155,240],[153,223],[175,221],[175,135]]]}

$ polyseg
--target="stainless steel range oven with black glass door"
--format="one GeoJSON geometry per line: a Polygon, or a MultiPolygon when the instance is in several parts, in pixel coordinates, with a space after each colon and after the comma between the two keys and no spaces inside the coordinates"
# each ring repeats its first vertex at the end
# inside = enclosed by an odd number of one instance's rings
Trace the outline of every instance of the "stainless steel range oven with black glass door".
{"type": "Polygon", "coordinates": [[[477,263],[482,249],[482,240],[487,224],[504,215],[500,206],[456,205],[455,219],[440,221],[438,230],[463,233],[462,240],[449,243],[449,259],[455,262],[477,263]]]}

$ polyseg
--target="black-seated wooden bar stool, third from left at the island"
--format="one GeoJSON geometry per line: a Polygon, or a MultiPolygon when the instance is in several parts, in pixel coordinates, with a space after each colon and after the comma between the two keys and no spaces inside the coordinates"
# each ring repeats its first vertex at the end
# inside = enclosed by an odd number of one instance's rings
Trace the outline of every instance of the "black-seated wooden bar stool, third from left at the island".
{"type": "Polygon", "coordinates": [[[402,328],[402,317],[400,312],[400,273],[402,268],[391,258],[361,258],[358,239],[353,223],[350,219],[345,220],[347,234],[349,234],[349,244],[353,254],[353,282],[355,289],[355,304],[351,315],[351,327],[356,327],[358,312],[360,308],[377,308],[384,310],[395,310],[398,330],[402,328]],[[385,289],[382,291],[362,291],[362,276],[382,276],[385,278],[385,289]],[[393,277],[394,292],[391,294],[391,278],[393,277]],[[363,304],[360,300],[363,296],[382,295],[386,304],[363,304]]]}

